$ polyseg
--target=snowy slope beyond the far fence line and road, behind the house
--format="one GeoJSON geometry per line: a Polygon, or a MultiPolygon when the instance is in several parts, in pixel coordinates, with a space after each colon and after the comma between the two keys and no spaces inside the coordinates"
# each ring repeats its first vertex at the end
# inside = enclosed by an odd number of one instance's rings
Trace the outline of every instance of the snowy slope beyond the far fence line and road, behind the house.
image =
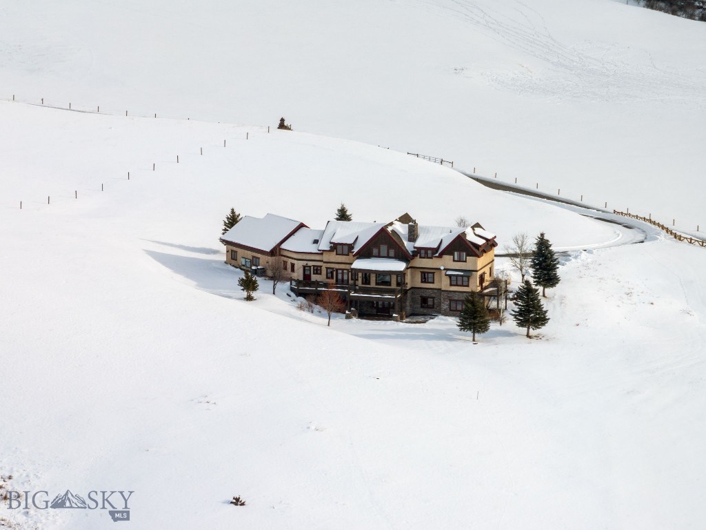
{"type": "Polygon", "coordinates": [[[11,0],[0,97],[275,125],[694,230],[706,24],[612,0],[11,0]],[[664,182],[669,182],[665,186],[664,182]]]}

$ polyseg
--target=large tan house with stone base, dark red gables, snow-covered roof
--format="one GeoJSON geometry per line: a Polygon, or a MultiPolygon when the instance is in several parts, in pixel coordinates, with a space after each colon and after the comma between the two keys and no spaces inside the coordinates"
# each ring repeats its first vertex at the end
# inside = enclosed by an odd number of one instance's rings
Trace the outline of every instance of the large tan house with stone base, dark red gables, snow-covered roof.
{"type": "Polygon", "coordinates": [[[269,276],[281,266],[297,295],[337,290],[353,315],[457,315],[467,293],[493,279],[495,235],[479,225],[419,225],[408,213],[389,223],[330,220],[313,230],[268,213],[226,232],[226,263],[269,276]],[[279,261],[280,263],[275,263],[279,261]]]}

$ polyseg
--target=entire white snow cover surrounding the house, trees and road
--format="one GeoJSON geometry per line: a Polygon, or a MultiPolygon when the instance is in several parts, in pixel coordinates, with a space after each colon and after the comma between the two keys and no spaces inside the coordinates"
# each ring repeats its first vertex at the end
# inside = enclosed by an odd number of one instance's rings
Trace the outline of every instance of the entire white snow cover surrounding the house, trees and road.
{"type": "MultiPolygon", "coordinates": [[[[702,527],[706,249],[646,225],[615,246],[405,152],[698,222],[706,25],[608,0],[74,0],[7,2],[0,30],[6,99],[113,114],[0,103],[4,488],[134,490],[138,529],[702,527]],[[268,133],[282,114],[307,132],[268,133]],[[228,209],[323,228],[340,201],[586,250],[534,340],[328,328],[267,281],[244,302],[228,209]]],[[[114,524],[1,496],[0,526],[114,524]]]]}

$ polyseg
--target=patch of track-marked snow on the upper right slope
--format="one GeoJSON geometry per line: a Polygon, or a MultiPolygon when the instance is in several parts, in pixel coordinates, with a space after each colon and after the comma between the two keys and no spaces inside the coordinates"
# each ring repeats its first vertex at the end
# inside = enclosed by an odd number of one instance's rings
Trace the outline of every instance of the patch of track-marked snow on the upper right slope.
{"type": "MultiPolygon", "coordinates": [[[[656,64],[645,50],[631,50],[610,42],[583,41],[566,45],[554,38],[544,17],[521,1],[501,13],[477,1],[450,0],[443,9],[464,23],[491,33],[494,40],[529,54],[547,65],[534,72],[523,66],[512,72],[486,71],[498,88],[537,93],[550,99],[629,102],[661,100],[705,105],[706,70],[688,72],[656,64]],[[642,56],[641,61],[635,55],[642,56]],[[633,66],[635,65],[635,66],[633,66]]],[[[436,3],[429,4],[436,8],[436,3]]],[[[456,69],[462,72],[463,69],[456,69]]]]}

